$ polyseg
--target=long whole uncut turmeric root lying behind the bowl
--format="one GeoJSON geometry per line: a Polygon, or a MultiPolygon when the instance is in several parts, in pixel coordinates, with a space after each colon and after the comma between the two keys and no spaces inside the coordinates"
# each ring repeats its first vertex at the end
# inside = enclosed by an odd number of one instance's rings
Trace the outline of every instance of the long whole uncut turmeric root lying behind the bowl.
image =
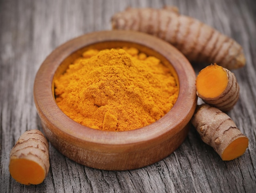
{"type": "Polygon", "coordinates": [[[177,7],[128,8],[111,20],[113,29],[141,31],[166,40],[191,62],[216,62],[227,69],[245,65],[240,44],[195,18],[180,15],[177,7]]]}

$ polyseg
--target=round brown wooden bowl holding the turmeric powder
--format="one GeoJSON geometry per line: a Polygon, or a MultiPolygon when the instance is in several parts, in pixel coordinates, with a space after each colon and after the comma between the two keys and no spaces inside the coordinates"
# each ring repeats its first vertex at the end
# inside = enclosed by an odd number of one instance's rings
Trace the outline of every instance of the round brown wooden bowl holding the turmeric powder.
{"type": "Polygon", "coordinates": [[[104,170],[137,169],[170,155],[184,141],[196,107],[195,72],[171,44],[133,31],[99,31],[56,48],[43,62],[34,82],[34,101],[43,131],[52,145],[71,160],[104,170]],[[131,131],[101,131],[68,118],[54,98],[54,78],[83,51],[136,47],[170,67],[180,91],[173,108],[161,119],[131,131]]]}

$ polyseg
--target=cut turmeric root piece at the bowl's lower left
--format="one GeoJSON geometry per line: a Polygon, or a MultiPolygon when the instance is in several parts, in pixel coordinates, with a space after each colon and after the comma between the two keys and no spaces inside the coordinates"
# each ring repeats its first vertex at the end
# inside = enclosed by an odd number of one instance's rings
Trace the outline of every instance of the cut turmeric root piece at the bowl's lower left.
{"type": "Polygon", "coordinates": [[[49,144],[39,130],[23,133],[11,149],[9,171],[20,184],[40,184],[49,171],[49,144]]]}

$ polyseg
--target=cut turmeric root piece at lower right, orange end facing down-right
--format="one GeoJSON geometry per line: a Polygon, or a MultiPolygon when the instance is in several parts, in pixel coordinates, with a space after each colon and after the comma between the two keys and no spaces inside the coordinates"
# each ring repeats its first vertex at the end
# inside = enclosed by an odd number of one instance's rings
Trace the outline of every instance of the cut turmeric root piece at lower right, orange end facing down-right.
{"type": "Polygon", "coordinates": [[[234,160],[245,153],[249,140],[226,113],[201,104],[191,122],[202,140],[212,146],[222,160],[234,160]]]}

